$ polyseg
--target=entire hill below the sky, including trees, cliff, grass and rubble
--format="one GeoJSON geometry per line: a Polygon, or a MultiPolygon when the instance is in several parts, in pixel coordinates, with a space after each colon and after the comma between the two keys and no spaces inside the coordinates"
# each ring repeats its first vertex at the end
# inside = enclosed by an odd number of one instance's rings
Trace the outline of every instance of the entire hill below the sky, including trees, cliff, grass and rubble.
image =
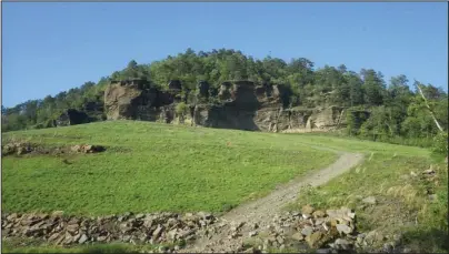
{"type": "Polygon", "coordinates": [[[313,65],[189,49],[2,108],[3,251],[447,252],[447,92],[313,65]]]}

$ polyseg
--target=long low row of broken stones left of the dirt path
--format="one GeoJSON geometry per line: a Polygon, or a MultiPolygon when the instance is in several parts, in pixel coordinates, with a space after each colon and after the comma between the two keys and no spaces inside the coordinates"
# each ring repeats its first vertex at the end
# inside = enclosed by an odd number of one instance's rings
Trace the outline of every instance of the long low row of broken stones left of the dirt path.
{"type": "Polygon", "coordinates": [[[181,243],[194,240],[200,228],[217,219],[208,213],[110,215],[102,217],[62,216],[53,214],[2,214],[1,231],[7,237],[32,237],[56,245],[91,242],[134,244],[181,243]]]}

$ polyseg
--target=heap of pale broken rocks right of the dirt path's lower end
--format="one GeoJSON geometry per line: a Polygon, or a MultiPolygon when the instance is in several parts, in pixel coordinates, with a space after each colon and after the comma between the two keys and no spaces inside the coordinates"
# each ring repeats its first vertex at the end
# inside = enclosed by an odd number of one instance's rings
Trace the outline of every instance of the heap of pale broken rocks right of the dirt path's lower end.
{"type": "MultiPolygon", "coordinates": [[[[216,224],[218,226],[219,223],[216,224]]],[[[227,227],[229,244],[221,248],[210,244],[206,252],[266,253],[270,250],[319,250],[321,253],[362,247],[365,234],[356,230],[356,213],[348,207],[315,210],[310,205],[301,212],[273,215],[271,222],[230,223],[227,227]],[[261,226],[261,225],[265,226],[261,226]],[[238,244],[232,240],[241,240],[238,244]],[[232,242],[232,243],[231,243],[232,242]],[[249,244],[250,243],[250,244],[249,244]]]]}

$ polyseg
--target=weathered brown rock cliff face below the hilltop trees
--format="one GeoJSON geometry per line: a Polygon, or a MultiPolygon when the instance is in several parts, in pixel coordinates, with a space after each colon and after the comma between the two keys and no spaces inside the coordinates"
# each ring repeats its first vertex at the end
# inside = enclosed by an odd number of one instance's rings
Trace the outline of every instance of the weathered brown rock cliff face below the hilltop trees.
{"type": "Polygon", "coordinates": [[[342,108],[285,109],[280,85],[257,85],[250,81],[225,82],[218,91],[207,82],[197,93],[171,81],[168,91],[144,81],[111,82],[104,92],[108,120],[142,120],[197,126],[265,132],[330,130],[343,124],[342,108]],[[187,109],[178,105],[186,103],[187,109]]]}

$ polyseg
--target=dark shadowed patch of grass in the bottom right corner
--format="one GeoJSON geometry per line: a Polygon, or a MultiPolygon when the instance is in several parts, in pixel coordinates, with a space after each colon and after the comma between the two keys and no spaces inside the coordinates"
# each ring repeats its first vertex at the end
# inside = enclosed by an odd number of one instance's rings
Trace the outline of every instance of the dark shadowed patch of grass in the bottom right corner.
{"type": "Polygon", "coordinates": [[[420,253],[449,253],[448,232],[437,228],[403,233],[402,243],[420,253]]]}

